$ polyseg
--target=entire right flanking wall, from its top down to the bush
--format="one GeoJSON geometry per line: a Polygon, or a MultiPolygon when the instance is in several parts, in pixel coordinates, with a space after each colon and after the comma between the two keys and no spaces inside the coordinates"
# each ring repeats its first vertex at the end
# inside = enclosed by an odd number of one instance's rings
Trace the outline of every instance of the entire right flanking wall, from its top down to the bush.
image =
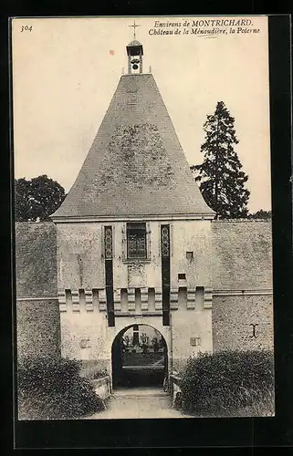
{"type": "Polygon", "coordinates": [[[273,349],[271,221],[214,221],[212,237],[214,350],[273,349]]]}

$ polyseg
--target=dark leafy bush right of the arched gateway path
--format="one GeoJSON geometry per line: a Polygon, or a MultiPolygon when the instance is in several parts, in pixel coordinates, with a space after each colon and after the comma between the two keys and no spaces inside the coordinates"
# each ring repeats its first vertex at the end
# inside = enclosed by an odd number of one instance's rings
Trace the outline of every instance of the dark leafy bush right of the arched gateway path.
{"type": "Polygon", "coordinates": [[[188,359],[180,386],[183,409],[188,413],[241,416],[243,410],[243,415],[272,415],[273,353],[265,350],[200,353],[188,359]]]}

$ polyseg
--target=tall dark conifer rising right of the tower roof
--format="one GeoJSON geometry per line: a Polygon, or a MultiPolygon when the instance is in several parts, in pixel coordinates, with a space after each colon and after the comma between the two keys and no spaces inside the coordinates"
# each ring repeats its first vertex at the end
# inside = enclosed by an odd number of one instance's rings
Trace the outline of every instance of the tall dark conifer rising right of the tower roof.
{"type": "Polygon", "coordinates": [[[231,117],[223,101],[218,101],[213,115],[204,123],[205,141],[201,146],[204,162],[191,166],[200,181],[204,200],[215,211],[215,218],[241,218],[247,216],[250,192],[245,183],[248,176],[234,150],[238,140],[231,117]]]}

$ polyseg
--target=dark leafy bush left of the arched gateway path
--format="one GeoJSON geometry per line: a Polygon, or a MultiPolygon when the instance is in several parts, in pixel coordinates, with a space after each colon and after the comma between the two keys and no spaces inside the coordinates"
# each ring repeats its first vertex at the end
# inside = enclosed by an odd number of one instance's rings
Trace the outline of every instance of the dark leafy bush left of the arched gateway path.
{"type": "Polygon", "coordinates": [[[20,420],[75,419],[104,409],[81,364],[68,358],[26,358],[17,368],[20,420]]]}

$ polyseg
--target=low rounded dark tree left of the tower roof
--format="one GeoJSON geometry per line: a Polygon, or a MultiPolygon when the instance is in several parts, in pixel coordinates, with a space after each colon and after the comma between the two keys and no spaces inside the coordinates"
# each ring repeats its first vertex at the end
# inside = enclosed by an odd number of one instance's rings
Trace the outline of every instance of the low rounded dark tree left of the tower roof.
{"type": "Polygon", "coordinates": [[[30,181],[16,179],[16,222],[50,221],[49,215],[58,210],[65,197],[64,188],[46,174],[30,181]]]}

